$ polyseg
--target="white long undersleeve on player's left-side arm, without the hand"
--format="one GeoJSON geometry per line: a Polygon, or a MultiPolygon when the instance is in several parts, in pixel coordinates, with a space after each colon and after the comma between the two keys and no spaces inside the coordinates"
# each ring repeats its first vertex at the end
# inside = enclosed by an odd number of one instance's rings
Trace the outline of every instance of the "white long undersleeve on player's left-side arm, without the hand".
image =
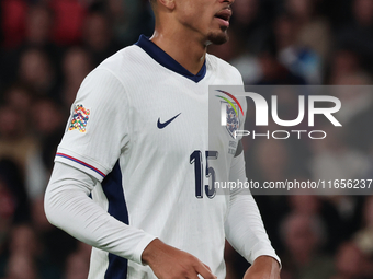
{"type": "Polygon", "coordinates": [[[97,183],[82,171],[56,162],[44,201],[49,222],[91,246],[142,264],[144,248],[156,237],[95,204],[89,195],[97,183]]]}

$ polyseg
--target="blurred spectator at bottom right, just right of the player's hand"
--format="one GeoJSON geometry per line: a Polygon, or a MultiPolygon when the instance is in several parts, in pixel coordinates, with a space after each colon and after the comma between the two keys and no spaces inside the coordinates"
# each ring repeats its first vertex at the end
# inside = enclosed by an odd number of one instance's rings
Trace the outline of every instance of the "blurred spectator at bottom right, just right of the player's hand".
{"type": "Polygon", "coordinates": [[[329,279],[332,260],[320,253],[324,239],[320,220],[315,216],[292,213],[282,223],[286,253],[282,256],[284,279],[329,279]]]}

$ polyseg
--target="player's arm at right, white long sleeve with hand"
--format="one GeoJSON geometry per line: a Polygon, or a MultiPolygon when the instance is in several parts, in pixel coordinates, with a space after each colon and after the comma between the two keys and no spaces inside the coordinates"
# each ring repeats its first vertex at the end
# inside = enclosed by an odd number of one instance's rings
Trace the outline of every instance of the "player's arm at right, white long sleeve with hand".
{"type": "MultiPolygon", "coordinates": [[[[229,181],[245,183],[244,151],[238,150],[238,153],[231,162],[229,181]]],[[[280,258],[271,245],[258,206],[249,191],[230,191],[225,232],[230,245],[251,264],[244,279],[280,278],[280,258]]]]}

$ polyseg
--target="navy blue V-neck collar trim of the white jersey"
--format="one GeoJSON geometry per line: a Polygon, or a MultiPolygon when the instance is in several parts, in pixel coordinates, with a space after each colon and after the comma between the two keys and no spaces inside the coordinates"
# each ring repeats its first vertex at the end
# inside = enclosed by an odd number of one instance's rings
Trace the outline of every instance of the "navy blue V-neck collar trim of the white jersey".
{"type": "Polygon", "coordinates": [[[203,67],[200,70],[200,72],[197,74],[193,74],[190,71],[188,71],[184,67],[182,67],[178,61],[176,61],[171,56],[166,54],[160,47],[158,47],[146,36],[142,35],[135,45],[143,48],[144,51],[146,51],[152,59],[155,59],[161,66],[196,83],[200,82],[206,75],[206,61],[203,63],[203,67]]]}

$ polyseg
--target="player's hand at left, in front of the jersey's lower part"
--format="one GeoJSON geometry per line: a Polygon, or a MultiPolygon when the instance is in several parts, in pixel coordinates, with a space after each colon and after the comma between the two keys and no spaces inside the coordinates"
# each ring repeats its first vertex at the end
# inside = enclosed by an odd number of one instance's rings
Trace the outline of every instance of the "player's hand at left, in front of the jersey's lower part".
{"type": "Polygon", "coordinates": [[[158,239],[144,249],[142,259],[144,264],[150,266],[159,279],[199,279],[197,275],[204,279],[216,279],[210,267],[196,257],[169,246],[158,239]]]}

